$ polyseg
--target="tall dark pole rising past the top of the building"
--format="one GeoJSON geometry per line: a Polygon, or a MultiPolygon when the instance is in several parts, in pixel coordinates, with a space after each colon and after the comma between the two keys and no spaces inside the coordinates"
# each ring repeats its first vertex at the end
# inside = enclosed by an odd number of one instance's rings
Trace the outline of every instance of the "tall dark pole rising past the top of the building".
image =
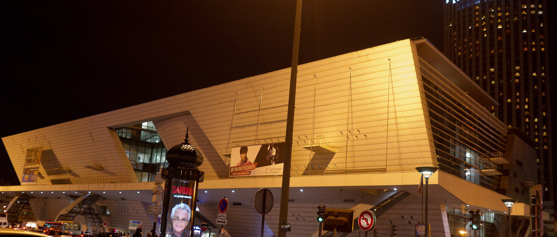
{"type": "Polygon", "coordinates": [[[294,43],[292,44],[292,68],[290,72],[290,93],[288,96],[288,113],[286,115],[286,137],[284,149],[284,168],[282,169],[282,188],[280,195],[280,212],[278,214],[278,237],[285,237],[281,230],[287,220],[288,197],[290,195],[290,164],[292,160],[292,136],[294,135],[294,106],[296,102],[296,79],[298,76],[298,50],[300,48],[300,22],[302,18],[302,0],[296,0],[296,20],[294,23],[294,43]]]}

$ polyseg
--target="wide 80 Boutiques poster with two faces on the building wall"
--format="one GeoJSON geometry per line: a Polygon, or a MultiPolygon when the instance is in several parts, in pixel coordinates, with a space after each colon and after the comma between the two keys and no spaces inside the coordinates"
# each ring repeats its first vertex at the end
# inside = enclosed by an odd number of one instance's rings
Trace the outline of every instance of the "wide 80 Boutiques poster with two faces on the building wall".
{"type": "Polygon", "coordinates": [[[230,177],[282,175],[285,143],[233,147],[230,177]]]}

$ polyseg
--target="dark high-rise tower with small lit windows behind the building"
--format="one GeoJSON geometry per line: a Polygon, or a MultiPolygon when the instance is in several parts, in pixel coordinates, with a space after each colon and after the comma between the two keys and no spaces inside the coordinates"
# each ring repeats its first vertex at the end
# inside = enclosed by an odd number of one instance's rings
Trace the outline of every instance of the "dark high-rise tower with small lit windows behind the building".
{"type": "Polygon", "coordinates": [[[488,111],[535,141],[544,200],[554,201],[546,9],[546,0],[446,0],[444,53],[499,102],[488,111]]]}

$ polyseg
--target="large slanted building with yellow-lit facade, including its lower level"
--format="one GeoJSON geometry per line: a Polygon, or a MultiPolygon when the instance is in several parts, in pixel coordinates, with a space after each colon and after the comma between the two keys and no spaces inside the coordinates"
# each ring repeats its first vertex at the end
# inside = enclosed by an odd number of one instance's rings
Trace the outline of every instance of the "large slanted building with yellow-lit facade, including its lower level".
{"type": "MultiPolygon", "coordinates": [[[[226,197],[232,205],[224,227],[233,236],[260,235],[253,200],[262,187],[275,196],[265,236],[276,235],[282,177],[273,171],[281,169],[291,174],[288,235],[294,237],[316,235],[318,205],[356,214],[371,209],[380,217],[379,236],[387,236],[392,224],[397,236],[415,236],[415,225],[423,224],[421,166],[439,167],[429,178],[432,236],[470,233],[463,220],[472,209],[485,213],[482,233],[501,233],[507,208],[500,199],[519,200],[511,214],[526,215],[530,196],[522,182],[538,182],[525,172],[535,167],[529,139],[486,111],[496,101],[427,40],[306,63],[298,75],[290,167],[276,156],[284,157],[286,68],[3,137],[19,178],[30,180],[3,191],[33,191],[28,201],[42,220],[71,205],[68,193],[91,192],[91,206],[110,212],[101,216],[107,228],[126,229],[130,220],[152,223],[146,214],[150,174],[167,165],[156,144],[173,147],[189,131],[204,160],[199,211],[214,223],[217,203],[226,197]]],[[[348,236],[362,234],[355,229],[348,236]]]]}

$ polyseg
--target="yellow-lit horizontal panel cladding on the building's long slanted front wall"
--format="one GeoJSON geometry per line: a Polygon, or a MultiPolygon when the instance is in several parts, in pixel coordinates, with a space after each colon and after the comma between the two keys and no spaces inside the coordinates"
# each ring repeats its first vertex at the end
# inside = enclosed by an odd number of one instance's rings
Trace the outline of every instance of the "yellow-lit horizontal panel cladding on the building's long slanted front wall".
{"type": "MultiPolygon", "coordinates": [[[[405,171],[436,163],[416,55],[413,43],[405,40],[300,65],[292,165],[405,171]],[[335,147],[336,154],[311,154],[301,147],[317,139],[335,147]]],[[[41,167],[46,176],[38,184],[52,179],[123,182],[137,178],[118,137],[107,127],[154,121],[168,147],[182,142],[189,127],[190,143],[206,160],[200,166],[206,179],[222,179],[229,160],[219,154],[232,146],[284,142],[288,85],[289,70],[278,70],[3,140],[18,175],[30,137],[45,137],[45,149],[52,149],[71,170],[46,175],[41,167]],[[101,156],[102,170],[75,162],[91,156],[101,156]]]]}

